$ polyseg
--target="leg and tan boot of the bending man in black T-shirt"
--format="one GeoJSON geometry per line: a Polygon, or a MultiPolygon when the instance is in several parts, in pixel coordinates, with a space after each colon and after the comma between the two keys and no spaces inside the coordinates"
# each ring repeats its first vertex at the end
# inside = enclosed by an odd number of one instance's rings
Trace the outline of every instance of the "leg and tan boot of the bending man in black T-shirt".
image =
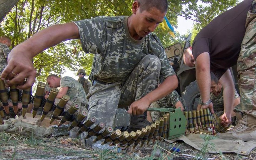
{"type": "MultiPolygon", "coordinates": [[[[240,55],[237,60],[237,72],[239,77],[239,89],[243,117],[238,120],[230,131],[219,134],[224,139],[241,139],[243,141],[256,141],[256,10],[250,10],[247,14],[246,32],[241,45],[240,55]]],[[[236,113],[237,117],[240,114],[236,113]]]]}

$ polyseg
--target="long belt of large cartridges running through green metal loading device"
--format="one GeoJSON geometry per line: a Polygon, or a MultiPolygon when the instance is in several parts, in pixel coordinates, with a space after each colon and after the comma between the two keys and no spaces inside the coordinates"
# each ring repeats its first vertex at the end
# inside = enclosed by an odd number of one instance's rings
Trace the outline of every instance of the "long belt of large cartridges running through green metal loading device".
{"type": "MultiPolygon", "coordinates": [[[[52,106],[54,104],[55,98],[59,92],[57,88],[51,88],[48,98],[45,103],[42,103],[43,95],[45,92],[46,84],[39,82],[36,93],[33,100],[33,117],[35,117],[38,108],[43,106],[43,113],[41,115],[41,120],[45,118],[50,110],[52,110],[52,106]]],[[[18,90],[16,86],[10,87],[11,100],[13,102],[14,111],[17,112],[18,105],[18,90]]],[[[22,92],[22,115],[25,116],[26,109],[28,107],[29,101],[31,98],[31,88],[23,90],[22,92]]],[[[8,114],[9,113],[9,105],[8,105],[8,95],[5,88],[4,81],[0,80],[0,99],[2,104],[4,105],[4,110],[8,114]]],[[[63,113],[63,108],[70,100],[69,96],[64,95],[58,105],[56,105],[55,110],[53,111],[53,115],[50,119],[50,123],[52,123],[61,113],[63,113]]],[[[163,117],[160,117],[159,120],[156,120],[150,126],[146,126],[146,128],[142,128],[142,130],[137,130],[136,132],[121,132],[120,130],[113,130],[112,127],[107,127],[103,122],[99,122],[95,127],[91,128],[92,125],[96,124],[95,117],[87,117],[88,112],[82,111],[78,116],[72,119],[72,116],[75,112],[80,108],[80,104],[73,103],[73,105],[63,114],[62,119],[60,120],[58,126],[62,125],[66,121],[70,121],[71,125],[68,130],[71,130],[74,127],[79,127],[79,131],[77,135],[82,132],[87,132],[85,139],[95,136],[93,142],[102,140],[102,144],[109,143],[110,145],[119,144],[122,147],[129,147],[133,145],[133,148],[136,147],[140,143],[140,147],[144,145],[147,141],[147,145],[150,140],[153,138],[153,142],[156,138],[176,138],[180,135],[185,134],[186,132],[197,133],[201,131],[208,131],[208,128],[212,129],[212,134],[216,134],[218,132],[225,132],[228,127],[224,127],[220,123],[220,118],[215,114],[211,114],[209,109],[201,109],[196,111],[184,111],[181,112],[180,109],[173,108],[149,108],[148,111],[160,111],[163,112],[163,117]],[[183,121],[184,120],[184,121],[183,121]],[[105,129],[104,129],[105,128],[105,129]],[[100,132],[103,130],[102,132],[100,132]],[[171,133],[174,133],[171,134],[171,133]]],[[[0,115],[4,117],[3,108],[0,107],[0,115]]],[[[2,119],[0,117],[0,122],[2,119]]]]}

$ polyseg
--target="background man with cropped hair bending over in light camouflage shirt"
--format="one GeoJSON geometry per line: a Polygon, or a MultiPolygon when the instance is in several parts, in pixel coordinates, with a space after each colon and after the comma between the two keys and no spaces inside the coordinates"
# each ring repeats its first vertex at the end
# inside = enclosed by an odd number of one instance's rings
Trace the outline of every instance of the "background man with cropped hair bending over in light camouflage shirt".
{"type": "MultiPolygon", "coordinates": [[[[70,97],[69,101],[71,101],[72,103],[75,102],[81,104],[81,107],[76,112],[76,115],[78,115],[81,111],[86,110],[86,106],[88,103],[86,99],[86,94],[83,90],[83,87],[80,85],[80,83],[78,83],[78,81],[68,76],[60,78],[55,74],[50,74],[46,80],[50,88],[60,87],[59,93],[56,96],[55,105],[57,105],[59,100],[66,94],[70,97]]],[[[48,95],[45,96],[45,99],[47,97],[48,95]]],[[[68,103],[64,107],[64,110],[67,111],[70,108],[70,104],[72,105],[72,103],[68,103]]]]}

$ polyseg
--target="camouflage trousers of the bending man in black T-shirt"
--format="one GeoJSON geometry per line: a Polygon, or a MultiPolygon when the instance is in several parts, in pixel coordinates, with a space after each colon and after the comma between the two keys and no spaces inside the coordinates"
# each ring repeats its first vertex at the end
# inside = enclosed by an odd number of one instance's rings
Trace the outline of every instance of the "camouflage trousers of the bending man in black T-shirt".
{"type": "Polygon", "coordinates": [[[246,32],[237,60],[242,110],[256,109],[256,9],[248,11],[246,32]]]}

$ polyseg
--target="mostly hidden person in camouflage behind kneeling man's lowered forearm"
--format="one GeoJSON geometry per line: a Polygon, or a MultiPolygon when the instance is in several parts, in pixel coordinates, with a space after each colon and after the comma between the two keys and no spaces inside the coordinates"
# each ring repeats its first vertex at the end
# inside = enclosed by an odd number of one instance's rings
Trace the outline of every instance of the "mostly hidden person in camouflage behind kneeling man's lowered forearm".
{"type": "MultiPolygon", "coordinates": [[[[160,100],[153,102],[149,107],[150,108],[180,108],[181,111],[184,110],[181,97],[176,90],[173,90],[170,94],[161,98],[160,100]]],[[[152,122],[155,120],[159,120],[160,113],[155,111],[151,111],[151,112],[148,111],[147,116],[148,116],[147,120],[152,122]]]]}

